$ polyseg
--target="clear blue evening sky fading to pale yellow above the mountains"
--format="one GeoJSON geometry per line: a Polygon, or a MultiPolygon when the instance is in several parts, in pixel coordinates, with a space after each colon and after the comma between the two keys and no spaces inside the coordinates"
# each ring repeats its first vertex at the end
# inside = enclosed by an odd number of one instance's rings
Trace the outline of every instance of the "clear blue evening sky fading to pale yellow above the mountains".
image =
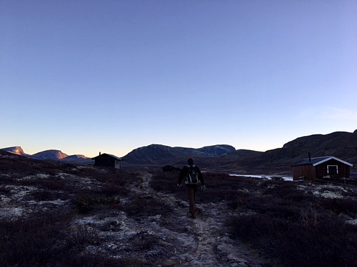
{"type": "Polygon", "coordinates": [[[357,1],[0,0],[0,147],[266,151],[357,129],[357,1]]]}

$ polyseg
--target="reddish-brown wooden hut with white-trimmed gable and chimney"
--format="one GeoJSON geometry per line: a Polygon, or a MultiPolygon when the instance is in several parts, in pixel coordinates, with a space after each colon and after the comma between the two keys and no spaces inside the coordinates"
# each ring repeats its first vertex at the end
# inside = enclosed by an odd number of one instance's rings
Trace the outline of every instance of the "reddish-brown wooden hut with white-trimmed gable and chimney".
{"type": "Polygon", "coordinates": [[[293,180],[304,179],[306,182],[315,182],[316,179],[349,178],[353,164],[337,157],[309,157],[292,166],[293,180]]]}

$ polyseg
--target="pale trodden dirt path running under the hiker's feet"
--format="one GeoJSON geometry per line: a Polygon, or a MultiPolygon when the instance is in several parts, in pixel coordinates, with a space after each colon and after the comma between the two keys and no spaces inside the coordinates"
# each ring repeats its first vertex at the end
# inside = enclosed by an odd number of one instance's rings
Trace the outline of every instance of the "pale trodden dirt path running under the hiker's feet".
{"type": "MultiPolygon", "coordinates": [[[[229,216],[226,204],[197,204],[197,218],[188,218],[188,202],[174,195],[154,191],[149,186],[152,175],[144,173],[138,194],[159,198],[173,206],[171,224],[178,229],[162,229],[171,242],[176,243],[176,252],[163,266],[263,266],[263,260],[245,244],[238,244],[227,234],[225,220],[229,216]]],[[[198,192],[202,194],[202,192],[198,192]]]]}

